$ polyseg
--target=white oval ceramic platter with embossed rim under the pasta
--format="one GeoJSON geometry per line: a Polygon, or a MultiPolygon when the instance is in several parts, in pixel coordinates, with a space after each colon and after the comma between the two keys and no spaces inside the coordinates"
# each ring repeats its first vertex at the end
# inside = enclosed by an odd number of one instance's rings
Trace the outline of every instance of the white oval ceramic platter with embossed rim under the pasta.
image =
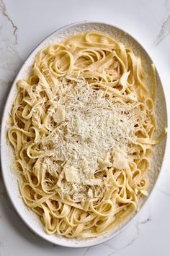
{"type": "MultiPolygon", "coordinates": [[[[74,23],[66,27],[62,27],[59,30],[56,30],[52,35],[48,36],[48,38],[45,38],[45,40],[43,40],[42,43],[40,43],[40,45],[37,46],[34,51],[32,51],[32,54],[30,54],[28,59],[24,62],[22,69],[20,69],[16,79],[14,80],[14,83],[12,85],[12,88],[10,90],[9,96],[6,101],[6,106],[4,108],[4,114],[1,122],[1,168],[2,168],[3,178],[4,178],[4,184],[6,186],[8,195],[12,201],[12,204],[14,205],[14,208],[17,210],[17,213],[22,218],[24,223],[26,223],[27,226],[30,229],[32,229],[32,231],[34,231],[36,234],[41,236],[43,239],[48,240],[49,242],[52,242],[54,244],[58,244],[61,246],[65,246],[65,247],[89,247],[95,244],[105,242],[108,239],[111,239],[117,234],[119,234],[120,231],[122,231],[123,229],[125,229],[125,227],[127,227],[128,224],[135,218],[136,214],[134,214],[128,220],[122,223],[121,226],[118,226],[117,229],[112,230],[108,234],[105,234],[104,236],[99,236],[98,238],[95,238],[95,239],[86,239],[86,240],[78,241],[76,239],[66,239],[61,236],[46,234],[43,229],[42,223],[40,222],[37,215],[33,213],[31,210],[28,210],[28,208],[24,205],[24,202],[22,202],[22,199],[19,197],[16,170],[14,170],[14,167],[12,166],[12,158],[13,158],[12,148],[10,147],[10,145],[7,145],[6,143],[6,129],[7,129],[6,120],[9,118],[9,112],[11,111],[12,103],[17,93],[16,82],[17,80],[25,77],[25,75],[28,74],[30,67],[35,59],[35,55],[37,54],[37,51],[39,51],[41,48],[45,47],[46,45],[53,43],[54,41],[60,41],[63,38],[67,37],[68,35],[81,33],[86,30],[97,30],[103,33],[107,33],[112,37],[116,38],[117,40],[120,40],[126,46],[130,46],[131,48],[133,48],[133,51],[135,51],[135,54],[141,57],[143,64],[146,70],[148,71],[148,73],[151,74],[151,63],[152,63],[151,58],[148,56],[148,54],[143,49],[143,47],[140,46],[140,43],[138,43],[137,40],[132,38],[130,35],[128,35],[124,31],[112,25],[107,25],[99,22],[79,22],[76,24],[74,23]]],[[[148,78],[147,82],[148,82],[148,85],[151,85],[150,78],[148,78]]],[[[158,77],[158,74],[157,74],[157,86],[158,88],[157,88],[157,98],[156,98],[156,115],[157,115],[157,121],[158,121],[158,127],[159,127],[158,132],[159,132],[161,129],[167,126],[167,115],[166,115],[166,102],[164,98],[164,90],[162,88],[161,80],[158,77]]],[[[166,148],[166,137],[164,137],[164,139],[161,140],[161,142],[158,145],[156,145],[156,148],[153,153],[153,160],[152,160],[153,164],[152,164],[151,171],[149,172],[149,175],[148,175],[148,179],[150,181],[150,187],[149,187],[150,194],[154,184],[156,183],[156,179],[158,178],[158,174],[161,169],[161,163],[164,158],[165,148],[166,148]]],[[[143,200],[143,202],[141,202],[140,208],[143,206],[146,200],[147,198],[143,200]]]]}

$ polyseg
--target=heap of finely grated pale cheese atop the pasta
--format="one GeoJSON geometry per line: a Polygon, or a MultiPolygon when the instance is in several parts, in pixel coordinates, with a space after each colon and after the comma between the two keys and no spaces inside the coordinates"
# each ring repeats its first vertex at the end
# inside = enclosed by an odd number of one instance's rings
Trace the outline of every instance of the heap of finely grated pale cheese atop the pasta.
{"type": "Polygon", "coordinates": [[[112,166],[128,168],[127,154],[133,153],[130,145],[136,140],[140,108],[104,90],[93,90],[84,80],[76,85],[63,81],[62,86],[68,90],[63,90],[58,108],[52,112],[58,127],[51,139],[53,155],[48,164],[59,176],[61,197],[82,201],[93,195],[92,187],[102,186],[104,179],[97,176],[98,171],[104,175],[112,166]]]}

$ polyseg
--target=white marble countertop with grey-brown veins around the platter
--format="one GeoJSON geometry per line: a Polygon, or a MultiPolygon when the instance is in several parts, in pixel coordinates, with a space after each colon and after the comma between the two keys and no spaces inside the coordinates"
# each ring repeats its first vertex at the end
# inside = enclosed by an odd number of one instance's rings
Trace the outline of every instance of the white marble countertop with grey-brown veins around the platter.
{"type": "MultiPolygon", "coordinates": [[[[170,0],[0,0],[0,116],[14,77],[37,43],[81,20],[107,22],[138,38],[161,75],[170,111],[170,0]]],[[[0,256],[169,256],[169,151],[168,141],[156,187],[128,229],[82,249],[58,247],[33,234],[12,207],[0,173],[0,256]]]]}

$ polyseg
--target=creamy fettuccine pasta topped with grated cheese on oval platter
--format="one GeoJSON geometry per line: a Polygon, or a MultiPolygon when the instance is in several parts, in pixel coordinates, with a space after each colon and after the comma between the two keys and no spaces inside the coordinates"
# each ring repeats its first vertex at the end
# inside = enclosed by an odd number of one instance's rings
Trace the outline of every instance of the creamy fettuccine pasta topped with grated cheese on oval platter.
{"type": "Polygon", "coordinates": [[[153,65],[152,77],[150,96],[133,49],[90,31],[42,48],[17,82],[7,137],[22,199],[48,234],[99,236],[148,195],[153,65]]]}

